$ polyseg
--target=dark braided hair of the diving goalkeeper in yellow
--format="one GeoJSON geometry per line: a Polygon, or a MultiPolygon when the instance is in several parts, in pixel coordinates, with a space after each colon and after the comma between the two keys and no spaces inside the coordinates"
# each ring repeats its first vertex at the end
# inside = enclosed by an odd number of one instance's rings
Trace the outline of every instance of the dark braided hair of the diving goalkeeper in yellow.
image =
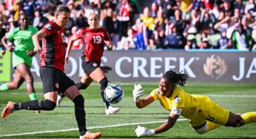
{"type": "Polygon", "coordinates": [[[180,73],[176,73],[172,70],[165,72],[164,78],[166,78],[170,83],[175,86],[178,84],[183,87],[186,84],[186,81],[189,79],[188,75],[180,73]]]}

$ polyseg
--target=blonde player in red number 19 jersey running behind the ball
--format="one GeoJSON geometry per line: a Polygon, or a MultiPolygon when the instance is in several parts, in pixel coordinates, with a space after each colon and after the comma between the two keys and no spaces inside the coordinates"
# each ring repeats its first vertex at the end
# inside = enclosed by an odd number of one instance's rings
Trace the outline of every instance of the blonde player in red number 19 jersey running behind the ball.
{"type": "Polygon", "coordinates": [[[108,81],[104,71],[100,67],[104,46],[107,46],[107,50],[112,50],[112,44],[107,31],[104,28],[98,27],[98,15],[96,13],[92,12],[89,14],[88,24],[90,27],[84,27],[78,30],[77,35],[70,38],[67,45],[65,61],[68,63],[73,42],[81,38],[84,44],[83,55],[81,56],[84,75],[81,78],[81,82],[76,83],[76,85],[78,89],[86,89],[92,81],[100,83],[101,97],[106,107],[106,115],[112,115],[118,112],[118,108],[110,106],[104,98],[104,89],[107,87],[108,81]]]}

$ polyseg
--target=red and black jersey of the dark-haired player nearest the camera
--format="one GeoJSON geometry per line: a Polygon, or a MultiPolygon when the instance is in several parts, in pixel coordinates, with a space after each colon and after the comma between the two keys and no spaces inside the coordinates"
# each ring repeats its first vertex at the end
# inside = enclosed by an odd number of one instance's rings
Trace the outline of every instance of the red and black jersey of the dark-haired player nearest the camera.
{"type": "Polygon", "coordinates": [[[64,59],[67,48],[64,30],[54,21],[50,21],[41,29],[47,33],[42,38],[42,51],[40,54],[41,67],[54,67],[64,71],[64,59]]]}

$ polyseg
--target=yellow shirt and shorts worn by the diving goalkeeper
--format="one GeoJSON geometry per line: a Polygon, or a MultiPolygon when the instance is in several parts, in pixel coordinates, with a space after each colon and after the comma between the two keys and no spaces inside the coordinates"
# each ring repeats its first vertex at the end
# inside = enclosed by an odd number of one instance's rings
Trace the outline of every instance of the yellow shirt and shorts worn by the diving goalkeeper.
{"type": "MultiPolygon", "coordinates": [[[[154,89],[150,95],[155,100],[160,101],[164,109],[169,111],[177,108],[182,109],[181,115],[192,121],[198,119],[207,119],[213,111],[218,110],[216,108],[220,107],[205,95],[190,95],[178,87],[175,87],[170,98],[160,95],[159,91],[159,89],[154,89]]],[[[221,112],[223,112],[222,109],[221,112]]],[[[225,122],[226,119],[223,121],[223,123],[225,122]]]]}

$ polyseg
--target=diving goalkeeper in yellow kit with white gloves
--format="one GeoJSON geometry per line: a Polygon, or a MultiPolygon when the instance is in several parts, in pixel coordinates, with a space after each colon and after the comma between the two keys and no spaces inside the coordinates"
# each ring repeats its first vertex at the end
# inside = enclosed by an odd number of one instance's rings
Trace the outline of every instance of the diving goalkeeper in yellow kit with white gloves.
{"type": "Polygon", "coordinates": [[[229,110],[218,106],[218,104],[204,95],[190,95],[179,89],[177,85],[183,87],[187,79],[188,76],[186,74],[167,71],[161,78],[158,89],[152,90],[150,95],[144,99],[139,98],[144,95],[141,84],[135,84],[135,89],[133,89],[132,93],[138,108],[143,108],[158,100],[164,109],[170,111],[168,121],[156,129],[148,130],[145,127],[138,126],[135,129],[138,137],[166,132],[174,126],[180,115],[189,119],[189,124],[199,134],[209,132],[222,125],[239,127],[247,123],[256,122],[256,112],[235,115],[229,110]]]}

